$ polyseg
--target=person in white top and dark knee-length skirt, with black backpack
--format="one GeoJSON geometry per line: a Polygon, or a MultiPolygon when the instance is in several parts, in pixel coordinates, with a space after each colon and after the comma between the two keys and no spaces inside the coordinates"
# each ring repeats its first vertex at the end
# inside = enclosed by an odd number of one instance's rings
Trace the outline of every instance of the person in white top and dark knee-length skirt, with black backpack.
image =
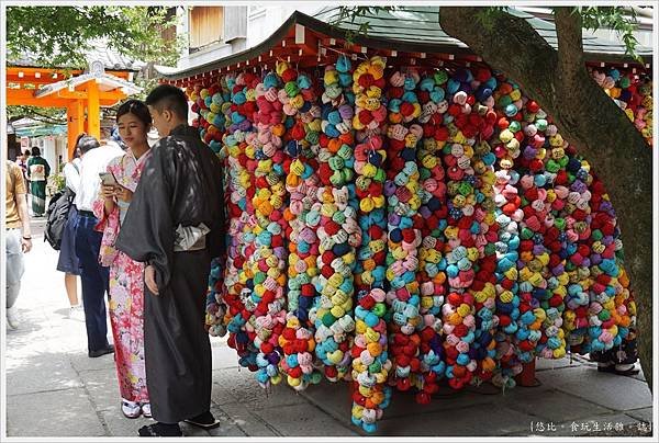
{"type": "MultiPolygon", "coordinates": [[[[85,134],[78,136],[76,146],[85,134]]],[[[74,197],[80,186],[80,150],[76,149],[74,159],[64,166],[63,174],[65,185],[72,193],[74,197]]],[[[78,209],[71,204],[64,231],[62,232],[62,247],[57,259],[57,271],[64,272],[64,286],[69,299],[68,318],[74,320],[83,320],[82,305],[78,300],[78,276],[80,275],[80,261],[76,255],[76,220],[78,209]]]]}

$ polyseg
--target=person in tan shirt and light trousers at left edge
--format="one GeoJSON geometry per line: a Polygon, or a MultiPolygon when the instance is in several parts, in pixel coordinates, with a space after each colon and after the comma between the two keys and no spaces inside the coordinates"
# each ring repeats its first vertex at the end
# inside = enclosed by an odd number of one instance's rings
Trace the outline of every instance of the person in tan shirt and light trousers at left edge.
{"type": "Polygon", "coordinates": [[[13,161],[7,160],[5,184],[5,263],[7,263],[7,325],[11,329],[19,328],[16,308],[14,306],[21,292],[21,279],[25,271],[23,253],[32,249],[30,215],[25,201],[25,181],[23,172],[13,161]]]}

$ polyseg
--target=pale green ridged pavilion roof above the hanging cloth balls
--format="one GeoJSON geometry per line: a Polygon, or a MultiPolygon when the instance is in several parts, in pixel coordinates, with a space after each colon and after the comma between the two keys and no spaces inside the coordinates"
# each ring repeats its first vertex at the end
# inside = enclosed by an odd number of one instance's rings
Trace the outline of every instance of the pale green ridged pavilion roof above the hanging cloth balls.
{"type": "MultiPolygon", "coordinates": [[[[314,16],[295,11],[266,41],[228,57],[179,70],[165,67],[156,67],[156,70],[167,80],[178,80],[253,59],[278,45],[295,24],[330,37],[344,38],[347,31],[357,31],[361,23],[369,22],[368,34],[356,36],[354,38],[356,44],[376,49],[396,49],[401,53],[474,55],[467,45],[442,30],[440,7],[399,7],[393,11],[377,10],[356,18],[354,23],[331,25],[330,23],[334,23],[338,18],[338,8],[325,7],[314,16]]],[[[525,19],[549,45],[557,47],[554,23],[520,10],[510,9],[510,12],[525,19]]],[[[634,63],[632,58],[625,56],[625,47],[618,42],[608,42],[588,32],[584,32],[583,38],[584,54],[589,61],[634,63]]],[[[647,63],[651,63],[651,48],[639,45],[637,53],[647,63]]]]}

